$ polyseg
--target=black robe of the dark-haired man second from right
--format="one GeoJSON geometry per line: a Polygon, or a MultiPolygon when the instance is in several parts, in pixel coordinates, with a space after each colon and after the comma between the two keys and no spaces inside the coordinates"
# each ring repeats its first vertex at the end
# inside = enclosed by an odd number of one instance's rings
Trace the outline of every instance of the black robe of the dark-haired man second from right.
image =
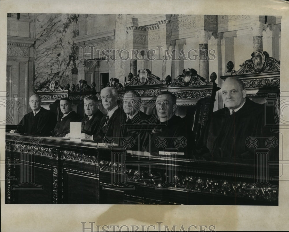
{"type": "Polygon", "coordinates": [[[194,146],[192,130],[187,126],[186,118],[174,115],[166,122],[157,121],[157,125],[146,136],[145,150],[151,153],[177,148],[185,152],[188,158],[194,146]]]}

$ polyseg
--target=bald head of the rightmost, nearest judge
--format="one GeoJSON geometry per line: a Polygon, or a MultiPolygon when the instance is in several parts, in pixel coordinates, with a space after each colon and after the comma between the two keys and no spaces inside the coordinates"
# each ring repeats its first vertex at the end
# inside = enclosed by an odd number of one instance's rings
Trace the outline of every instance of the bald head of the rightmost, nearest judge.
{"type": "Polygon", "coordinates": [[[222,98],[225,106],[231,110],[240,107],[246,98],[243,82],[236,77],[228,77],[222,84],[222,98]]]}

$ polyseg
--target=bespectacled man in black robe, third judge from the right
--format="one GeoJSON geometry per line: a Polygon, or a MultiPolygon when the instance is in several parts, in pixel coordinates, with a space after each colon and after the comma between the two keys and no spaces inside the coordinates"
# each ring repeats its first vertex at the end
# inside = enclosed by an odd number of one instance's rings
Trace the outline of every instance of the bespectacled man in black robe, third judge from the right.
{"type": "Polygon", "coordinates": [[[152,116],[139,110],[140,98],[135,91],[128,91],[123,98],[125,116],[121,124],[121,146],[128,150],[143,151],[144,140],[152,116]]]}

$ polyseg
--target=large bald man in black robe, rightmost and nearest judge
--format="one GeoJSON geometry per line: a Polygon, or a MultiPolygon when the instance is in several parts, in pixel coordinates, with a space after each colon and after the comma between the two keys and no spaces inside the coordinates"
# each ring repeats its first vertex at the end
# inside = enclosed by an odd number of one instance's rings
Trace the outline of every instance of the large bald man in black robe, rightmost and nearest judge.
{"type": "Polygon", "coordinates": [[[244,84],[236,77],[227,78],[221,91],[225,108],[213,113],[203,144],[213,158],[254,159],[246,139],[262,135],[263,106],[246,97],[244,84]]]}

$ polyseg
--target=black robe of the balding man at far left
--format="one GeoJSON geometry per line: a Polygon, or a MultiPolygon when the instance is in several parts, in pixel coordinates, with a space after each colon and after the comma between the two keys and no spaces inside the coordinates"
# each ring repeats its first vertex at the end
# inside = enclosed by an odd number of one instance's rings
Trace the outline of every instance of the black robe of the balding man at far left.
{"type": "Polygon", "coordinates": [[[40,107],[39,112],[34,116],[33,111],[24,115],[19,122],[18,133],[29,135],[50,136],[51,129],[55,127],[56,115],[49,110],[40,107]]]}

